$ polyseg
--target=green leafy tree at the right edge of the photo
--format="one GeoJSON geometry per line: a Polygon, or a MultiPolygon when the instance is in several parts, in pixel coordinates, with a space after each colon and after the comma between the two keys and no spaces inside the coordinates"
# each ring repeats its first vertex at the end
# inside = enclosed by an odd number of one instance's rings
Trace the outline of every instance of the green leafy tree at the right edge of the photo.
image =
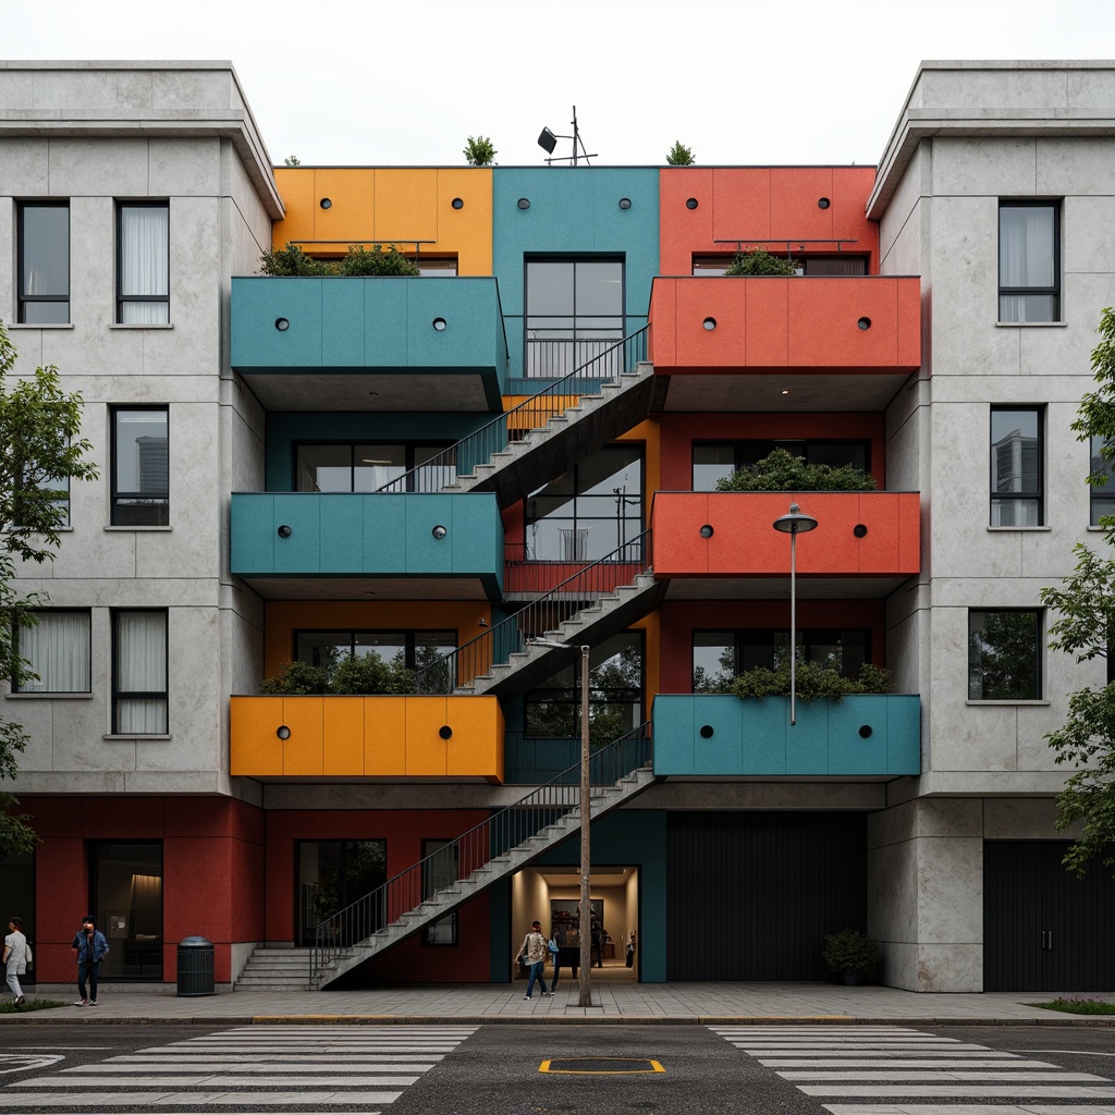
{"type": "MultiPolygon", "coordinates": [[[[1092,352],[1098,389],[1084,397],[1073,429],[1084,442],[1104,442],[1102,459],[1115,458],[1115,312],[1108,307],[1099,322],[1101,341],[1092,352]]],[[[1094,467],[1094,466],[1093,466],[1094,467]]],[[[1106,484],[1106,472],[1095,472],[1088,483],[1106,484]]],[[[1115,544],[1115,520],[1103,520],[1104,541],[1115,544]]],[[[1076,769],[1057,796],[1057,828],[1080,823],[1083,832],[1061,861],[1083,874],[1097,860],[1115,869],[1115,560],[1102,558],[1083,543],[1073,551],[1076,568],[1060,589],[1043,589],[1041,602],[1058,613],[1049,626],[1049,648],[1073,655],[1078,662],[1096,658],[1107,662],[1107,685],[1070,694],[1068,719],[1045,738],[1057,753],[1057,763],[1076,769]]],[[[1115,874],[1115,870],[1113,870],[1115,874]]]]}

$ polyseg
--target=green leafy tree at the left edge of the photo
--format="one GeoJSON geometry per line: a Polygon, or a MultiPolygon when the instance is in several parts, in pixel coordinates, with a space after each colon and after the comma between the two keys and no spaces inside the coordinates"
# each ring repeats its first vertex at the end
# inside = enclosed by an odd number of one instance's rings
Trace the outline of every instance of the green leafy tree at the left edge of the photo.
{"type": "MultiPolygon", "coordinates": [[[[93,448],[78,439],[81,396],[67,395],[58,369],[36,368],[17,380],[16,349],[0,322],[0,676],[19,686],[37,676],[19,653],[19,632],[36,623],[35,609],[47,602],[43,593],[20,595],[16,562],[54,561],[69,507],[69,482],[96,479],[97,466],[86,459],[93,448]]],[[[14,779],[17,755],[28,743],[23,729],[0,720],[0,779],[14,779]]],[[[0,793],[0,847],[29,852],[35,833],[26,815],[13,812],[11,794],[0,793]]]]}

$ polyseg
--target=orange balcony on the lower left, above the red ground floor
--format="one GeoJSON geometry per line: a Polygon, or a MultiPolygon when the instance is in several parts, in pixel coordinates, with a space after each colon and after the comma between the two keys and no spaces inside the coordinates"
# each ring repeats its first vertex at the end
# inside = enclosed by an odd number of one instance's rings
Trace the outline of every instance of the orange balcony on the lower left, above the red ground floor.
{"type": "Polygon", "coordinates": [[[231,773],[501,785],[503,729],[495,697],[233,697],[231,773]]]}

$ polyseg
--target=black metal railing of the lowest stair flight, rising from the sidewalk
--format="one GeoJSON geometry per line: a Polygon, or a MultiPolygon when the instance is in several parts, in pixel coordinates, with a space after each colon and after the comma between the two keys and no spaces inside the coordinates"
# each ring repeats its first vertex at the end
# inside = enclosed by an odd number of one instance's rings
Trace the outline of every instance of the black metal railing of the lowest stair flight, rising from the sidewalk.
{"type": "MultiPolygon", "coordinates": [[[[649,768],[652,759],[650,724],[641,724],[592,753],[589,758],[590,783],[597,787],[619,788],[623,778],[649,768]]],[[[352,946],[398,923],[424,903],[437,902],[439,895],[456,891],[454,882],[438,888],[440,881],[468,881],[495,861],[507,861],[513,851],[580,807],[581,764],[576,763],[432,855],[391,876],[351,905],[319,922],[310,949],[310,982],[319,986],[322,972],[343,958],[352,946]]],[[[591,811],[590,799],[590,820],[591,811]]],[[[569,833],[562,833],[563,837],[569,833]]],[[[539,851],[542,850],[540,846],[539,851]]]]}

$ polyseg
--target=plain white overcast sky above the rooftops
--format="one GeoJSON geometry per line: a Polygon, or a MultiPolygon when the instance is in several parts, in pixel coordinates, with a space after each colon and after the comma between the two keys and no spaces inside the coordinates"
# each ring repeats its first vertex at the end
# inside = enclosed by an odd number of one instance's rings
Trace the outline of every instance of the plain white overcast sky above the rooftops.
{"type": "Polygon", "coordinates": [[[231,59],[275,163],[875,163],[921,59],[1115,56],[1115,0],[0,0],[8,59],[231,59]],[[555,155],[570,153],[561,140],[555,155]]]}

